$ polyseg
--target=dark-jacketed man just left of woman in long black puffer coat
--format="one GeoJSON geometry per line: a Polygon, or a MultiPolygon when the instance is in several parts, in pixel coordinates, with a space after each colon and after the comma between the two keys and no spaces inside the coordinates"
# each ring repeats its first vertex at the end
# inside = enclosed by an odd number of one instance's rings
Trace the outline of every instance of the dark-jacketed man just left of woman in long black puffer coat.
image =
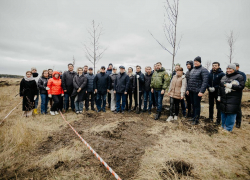
{"type": "Polygon", "coordinates": [[[220,80],[225,73],[220,68],[219,62],[213,63],[213,69],[209,73],[208,78],[208,91],[209,91],[209,119],[213,122],[214,116],[214,101],[216,102],[217,118],[216,123],[219,125],[221,122],[221,112],[220,112],[220,102],[218,99],[218,89],[220,85],[220,80]]]}

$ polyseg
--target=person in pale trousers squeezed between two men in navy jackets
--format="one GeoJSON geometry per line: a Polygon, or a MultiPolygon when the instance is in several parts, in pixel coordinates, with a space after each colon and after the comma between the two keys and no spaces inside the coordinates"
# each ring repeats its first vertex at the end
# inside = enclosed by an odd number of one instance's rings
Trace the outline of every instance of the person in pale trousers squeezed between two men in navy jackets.
{"type": "Polygon", "coordinates": [[[113,67],[113,73],[109,75],[110,77],[110,91],[109,95],[111,95],[111,100],[110,100],[110,110],[112,112],[115,111],[115,106],[116,106],[116,95],[114,94],[114,84],[115,84],[115,79],[117,77],[117,68],[113,67]]]}

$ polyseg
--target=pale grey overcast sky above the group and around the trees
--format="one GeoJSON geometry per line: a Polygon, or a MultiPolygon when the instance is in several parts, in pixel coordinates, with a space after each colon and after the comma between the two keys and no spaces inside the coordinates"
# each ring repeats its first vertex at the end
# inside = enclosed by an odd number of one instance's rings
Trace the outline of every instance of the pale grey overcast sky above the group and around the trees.
{"type": "MultiPolygon", "coordinates": [[[[107,47],[97,68],[137,64],[153,66],[161,61],[171,68],[171,55],[163,33],[164,0],[1,0],[0,73],[24,75],[32,66],[42,70],[66,70],[73,56],[76,66],[93,66],[85,57],[83,43],[92,20],[102,24],[102,47],[107,47]]],[[[226,34],[237,34],[234,62],[250,74],[250,1],[180,0],[177,38],[182,35],[176,63],[201,56],[202,63],[229,63],[226,34]]],[[[185,68],[186,69],[186,68],[185,68]]],[[[143,70],[144,72],[144,70],[143,70]]]]}

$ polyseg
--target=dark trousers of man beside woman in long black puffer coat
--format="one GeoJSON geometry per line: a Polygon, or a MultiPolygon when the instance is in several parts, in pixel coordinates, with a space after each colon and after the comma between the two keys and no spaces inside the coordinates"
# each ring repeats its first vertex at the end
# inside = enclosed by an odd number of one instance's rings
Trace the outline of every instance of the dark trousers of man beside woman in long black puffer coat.
{"type": "Polygon", "coordinates": [[[209,92],[209,119],[213,119],[214,116],[214,100],[215,100],[217,109],[217,120],[221,120],[220,102],[217,101],[217,98],[218,98],[218,90],[214,92],[209,92]]]}

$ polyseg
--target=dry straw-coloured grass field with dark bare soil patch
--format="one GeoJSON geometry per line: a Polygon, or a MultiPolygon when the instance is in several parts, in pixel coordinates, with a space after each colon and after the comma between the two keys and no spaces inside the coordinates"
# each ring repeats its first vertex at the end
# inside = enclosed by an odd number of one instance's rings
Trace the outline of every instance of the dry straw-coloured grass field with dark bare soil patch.
{"type": "MultiPolygon", "coordinates": [[[[18,79],[0,87],[0,122],[20,101],[18,79]]],[[[93,111],[65,113],[67,121],[121,179],[250,179],[250,92],[242,128],[223,132],[202,120],[167,123],[152,115],[93,111]]],[[[21,105],[0,125],[0,179],[115,179],[60,115],[22,117],[21,105]]]]}

